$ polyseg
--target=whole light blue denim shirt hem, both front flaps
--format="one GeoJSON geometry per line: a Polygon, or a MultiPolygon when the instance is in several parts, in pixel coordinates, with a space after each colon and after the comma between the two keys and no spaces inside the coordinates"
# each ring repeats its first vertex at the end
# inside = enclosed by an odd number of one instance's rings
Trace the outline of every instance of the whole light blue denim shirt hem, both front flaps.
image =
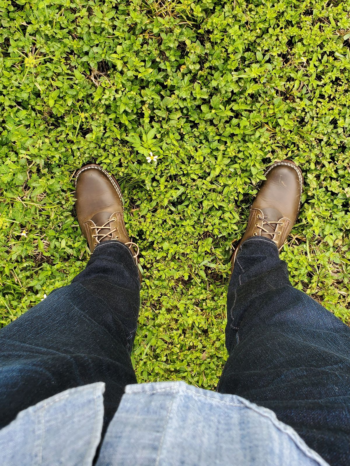
{"type": "MultiPolygon", "coordinates": [[[[22,411],[0,431],[1,464],[91,465],[103,391],[86,385],[22,411]]],[[[328,466],[272,411],[184,382],[126,387],[96,466],[106,465],[328,466]]]]}

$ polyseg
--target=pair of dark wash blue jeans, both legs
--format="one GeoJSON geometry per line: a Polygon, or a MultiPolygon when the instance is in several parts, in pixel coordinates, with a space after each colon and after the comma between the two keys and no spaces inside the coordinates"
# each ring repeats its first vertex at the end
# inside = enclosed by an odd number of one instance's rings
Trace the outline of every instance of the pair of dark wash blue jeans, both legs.
{"type": "MultiPolygon", "coordinates": [[[[0,331],[0,427],[56,393],[103,381],[105,428],[126,384],[140,305],[137,268],[117,241],[0,331]]],[[[350,329],[290,284],[271,240],[246,240],[231,277],[230,353],[218,391],[273,410],[331,465],[350,459],[350,329]]]]}

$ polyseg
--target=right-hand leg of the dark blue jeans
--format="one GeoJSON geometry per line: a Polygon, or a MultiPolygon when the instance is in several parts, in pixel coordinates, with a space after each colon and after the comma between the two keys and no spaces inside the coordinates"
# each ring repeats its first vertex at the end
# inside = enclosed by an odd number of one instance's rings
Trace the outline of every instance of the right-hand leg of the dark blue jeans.
{"type": "Polygon", "coordinates": [[[331,465],[350,458],[350,329],[292,287],[273,241],[242,243],[218,391],[271,409],[331,465]]]}

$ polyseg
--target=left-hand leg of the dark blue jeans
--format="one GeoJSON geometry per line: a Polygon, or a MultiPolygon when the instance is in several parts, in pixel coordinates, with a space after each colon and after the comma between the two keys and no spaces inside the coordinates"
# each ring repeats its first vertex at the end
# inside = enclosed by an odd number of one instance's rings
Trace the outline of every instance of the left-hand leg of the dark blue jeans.
{"type": "Polygon", "coordinates": [[[130,250],[117,241],[96,247],[66,287],[0,331],[0,428],[56,393],[105,382],[105,427],[127,384],[140,307],[130,250]]]}

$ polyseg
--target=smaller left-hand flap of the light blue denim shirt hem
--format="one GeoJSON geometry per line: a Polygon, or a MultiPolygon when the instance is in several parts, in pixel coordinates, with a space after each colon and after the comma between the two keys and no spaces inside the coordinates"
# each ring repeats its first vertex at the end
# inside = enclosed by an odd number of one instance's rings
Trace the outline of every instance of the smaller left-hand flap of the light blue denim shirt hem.
{"type": "Polygon", "coordinates": [[[1,466],[91,466],[103,423],[102,383],[63,391],[0,430],[1,466]]]}

